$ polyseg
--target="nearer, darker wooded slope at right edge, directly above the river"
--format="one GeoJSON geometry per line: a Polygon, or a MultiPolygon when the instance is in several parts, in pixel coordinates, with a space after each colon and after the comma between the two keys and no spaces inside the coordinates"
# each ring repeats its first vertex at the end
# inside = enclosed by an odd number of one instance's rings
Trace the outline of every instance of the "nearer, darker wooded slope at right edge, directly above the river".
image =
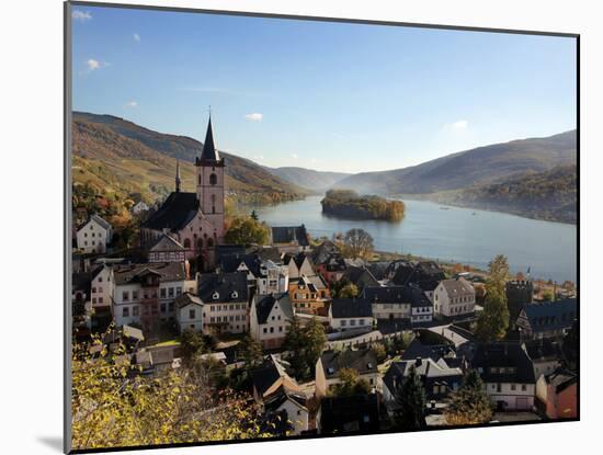
{"type": "Polygon", "coordinates": [[[452,205],[576,223],[577,191],[577,168],[574,164],[568,164],[490,185],[436,193],[433,198],[452,205]]]}

